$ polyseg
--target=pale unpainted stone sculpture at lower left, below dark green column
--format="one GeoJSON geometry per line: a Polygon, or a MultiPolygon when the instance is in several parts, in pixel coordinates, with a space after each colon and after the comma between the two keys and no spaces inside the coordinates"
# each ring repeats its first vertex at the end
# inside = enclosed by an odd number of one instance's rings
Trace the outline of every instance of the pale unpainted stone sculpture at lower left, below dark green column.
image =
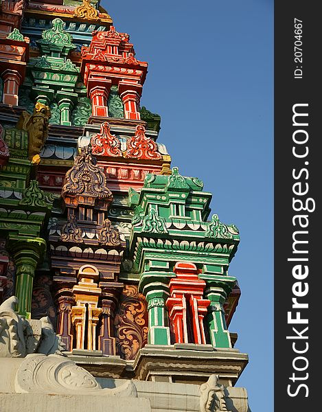
{"type": "Polygon", "coordinates": [[[18,299],[8,298],[0,306],[0,358],[23,358],[27,354],[61,354],[60,337],[48,317],[27,321],[15,312],[18,299]]]}

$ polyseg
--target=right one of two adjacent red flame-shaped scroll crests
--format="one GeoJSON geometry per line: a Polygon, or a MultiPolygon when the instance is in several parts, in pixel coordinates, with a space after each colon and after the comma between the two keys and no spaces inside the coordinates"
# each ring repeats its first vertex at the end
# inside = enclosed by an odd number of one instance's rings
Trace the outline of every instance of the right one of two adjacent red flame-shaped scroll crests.
{"type": "Polygon", "coordinates": [[[157,144],[151,137],[146,137],[146,129],[141,125],[136,127],[135,135],[126,142],[125,157],[148,160],[162,159],[157,144]]]}

